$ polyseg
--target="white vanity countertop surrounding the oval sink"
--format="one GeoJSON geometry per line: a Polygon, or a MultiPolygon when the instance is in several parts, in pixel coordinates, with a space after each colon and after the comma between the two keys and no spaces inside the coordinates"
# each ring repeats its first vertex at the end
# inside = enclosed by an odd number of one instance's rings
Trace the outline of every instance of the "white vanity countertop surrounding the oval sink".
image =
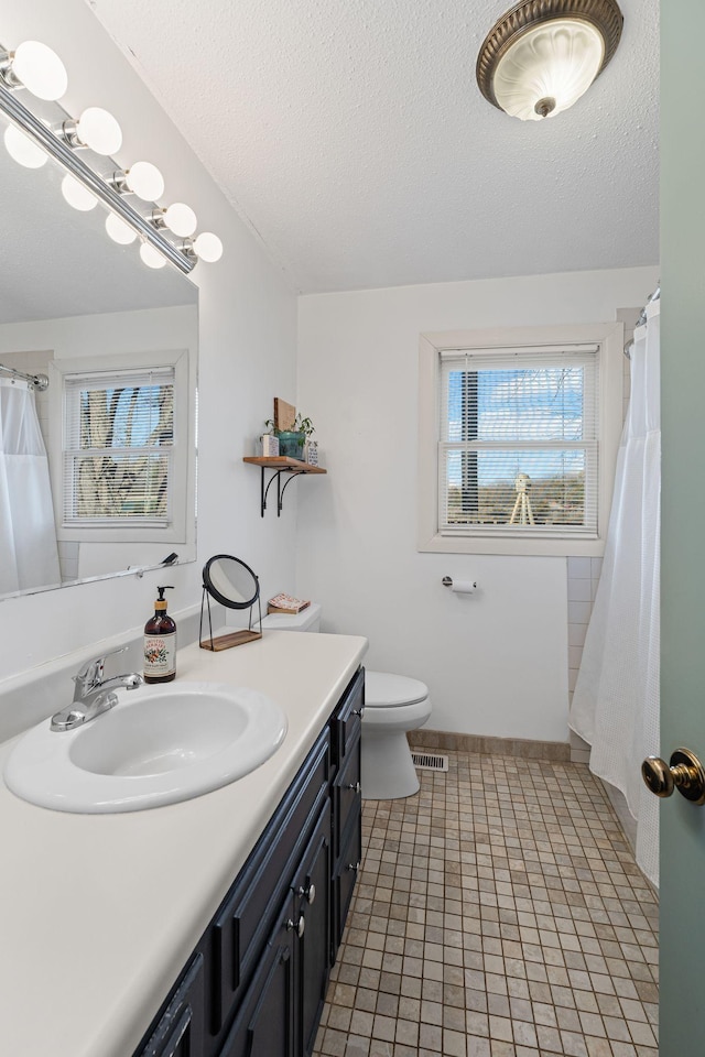
{"type": "MultiPolygon", "coordinates": [[[[2,1054],[131,1057],[366,647],[268,632],[221,653],[180,651],[177,679],[254,687],[289,719],[267,763],[205,796],[69,815],[0,782],[2,1054]]],[[[0,745],[0,770],[12,743],[0,745]]]]}

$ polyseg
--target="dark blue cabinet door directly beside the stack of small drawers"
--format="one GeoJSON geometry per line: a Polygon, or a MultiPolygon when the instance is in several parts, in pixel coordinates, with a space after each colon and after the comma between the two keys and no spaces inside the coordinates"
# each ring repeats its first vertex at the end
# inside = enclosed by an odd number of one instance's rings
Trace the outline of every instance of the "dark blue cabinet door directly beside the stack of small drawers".
{"type": "Polygon", "coordinates": [[[299,901],[296,919],[304,923],[299,938],[297,1034],[305,1055],[313,1050],[330,969],[330,802],[327,800],[294,878],[299,901]]]}

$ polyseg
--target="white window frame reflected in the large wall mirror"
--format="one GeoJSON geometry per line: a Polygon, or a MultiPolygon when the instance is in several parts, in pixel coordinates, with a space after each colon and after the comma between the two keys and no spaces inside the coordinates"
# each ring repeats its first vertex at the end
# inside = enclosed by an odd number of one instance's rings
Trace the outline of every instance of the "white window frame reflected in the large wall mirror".
{"type": "Polygon", "coordinates": [[[51,393],[51,448],[62,453],[52,460],[52,494],[56,537],[59,541],[76,543],[186,543],[188,536],[187,510],[189,495],[193,495],[195,478],[194,421],[189,412],[193,379],[189,372],[187,349],[164,352],[134,352],[116,356],[85,356],[76,359],[55,359],[50,364],[51,393]],[[118,371],[149,368],[174,368],[174,442],[173,442],[173,491],[172,520],[166,525],[150,526],[130,523],[119,525],[80,525],[64,522],[64,422],[65,385],[64,379],[74,374],[112,375],[118,371]]]}

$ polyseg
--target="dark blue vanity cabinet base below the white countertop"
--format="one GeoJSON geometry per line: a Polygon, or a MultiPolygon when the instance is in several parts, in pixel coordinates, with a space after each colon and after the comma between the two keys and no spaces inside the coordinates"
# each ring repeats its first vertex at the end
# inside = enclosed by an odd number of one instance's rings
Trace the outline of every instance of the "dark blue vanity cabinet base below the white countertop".
{"type": "Polygon", "coordinates": [[[310,1057],[360,859],[360,668],[134,1057],[310,1057]]]}

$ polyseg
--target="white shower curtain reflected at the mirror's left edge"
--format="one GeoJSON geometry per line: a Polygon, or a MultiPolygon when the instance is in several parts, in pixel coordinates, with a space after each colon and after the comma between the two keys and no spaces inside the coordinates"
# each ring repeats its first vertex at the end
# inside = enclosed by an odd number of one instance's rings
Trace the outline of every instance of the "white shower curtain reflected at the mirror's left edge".
{"type": "Polygon", "coordinates": [[[46,449],[34,392],[0,378],[0,595],[61,584],[46,449]]]}

